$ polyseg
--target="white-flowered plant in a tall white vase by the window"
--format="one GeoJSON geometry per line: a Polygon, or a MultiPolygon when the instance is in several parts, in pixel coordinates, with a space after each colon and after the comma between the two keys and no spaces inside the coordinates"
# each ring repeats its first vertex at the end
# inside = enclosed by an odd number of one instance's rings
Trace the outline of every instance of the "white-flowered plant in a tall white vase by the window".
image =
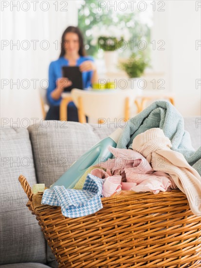
{"type": "Polygon", "coordinates": [[[128,29],[119,29],[116,26],[92,28],[92,45],[98,44],[98,49],[104,51],[106,69],[108,72],[114,72],[118,63],[118,49],[125,46],[125,41],[129,39],[128,29]]]}

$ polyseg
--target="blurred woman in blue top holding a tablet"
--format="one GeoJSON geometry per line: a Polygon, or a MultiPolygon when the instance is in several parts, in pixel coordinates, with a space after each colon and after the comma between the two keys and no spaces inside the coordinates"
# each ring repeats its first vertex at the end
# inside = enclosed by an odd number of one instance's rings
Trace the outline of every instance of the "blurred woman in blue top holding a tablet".
{"type": "MultiPolygon", "coordinates": [[[[84,88],[98,82],[97,70],[92,57],[86,56],[82,33],[78,27],[69,26],[62,35],[61,53],[57,60],[49,66],[49,87],[47,99],[50,109],[46,120],[59,120],[61,94],[65,87],[72,85],[68,78],[62,77],[63,66],[79,66],[82,72],[84,88]]],[[[67,107],[68,121],[78,122],[77,108],[73,101],[67,107]]]]}

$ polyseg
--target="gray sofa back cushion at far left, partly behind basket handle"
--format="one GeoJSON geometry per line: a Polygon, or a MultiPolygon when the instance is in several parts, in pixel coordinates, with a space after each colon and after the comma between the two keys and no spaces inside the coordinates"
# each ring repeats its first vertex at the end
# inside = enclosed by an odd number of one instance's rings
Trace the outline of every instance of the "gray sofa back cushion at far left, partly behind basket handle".
{"type": "Polygon", "coordinates": [[[30,185],[37,183],[29,133],[24,128],[3,128],[0,140],[0,265],[46,263],[46,241],[18,181],[23,174],[30,185]]]}

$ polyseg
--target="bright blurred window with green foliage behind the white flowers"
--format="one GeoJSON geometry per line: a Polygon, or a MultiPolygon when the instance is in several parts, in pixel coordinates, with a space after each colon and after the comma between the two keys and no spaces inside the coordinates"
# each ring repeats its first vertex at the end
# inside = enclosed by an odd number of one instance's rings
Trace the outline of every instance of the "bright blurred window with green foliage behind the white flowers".
{"type": "MultiPolygon", "coordinates": [[[[148,1],[131,4],[132,1],[78,1],[78,26],[85,38],[88,55],[101,58],[102,49],[94,43],[103,29],[113,29],[114,35],[127,32],[126,44],[118,49],[119,57],[128,57],[132,50],[144,50],[150,56],[150,30],[152,6],[148,1]],[[144,4],[143,4],[144,3],[144,4]],[[97,30],[98,29],[98,30],[97,30]],[[127,45],[127,46],[126,46],[127,45]]],[[[106,33],[107,34],[107,30],[106,33]]]]}

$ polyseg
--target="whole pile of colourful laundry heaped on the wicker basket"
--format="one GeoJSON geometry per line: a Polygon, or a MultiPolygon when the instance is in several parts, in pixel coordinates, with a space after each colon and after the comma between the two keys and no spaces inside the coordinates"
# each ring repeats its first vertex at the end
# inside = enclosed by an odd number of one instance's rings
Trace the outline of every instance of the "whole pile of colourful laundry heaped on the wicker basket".
{"type": "Polygon", "coordinates": [[[61,206],[63,215],[80,217],[100,210],[101,197],[122,190],[157,194],[180,189],[186,194],[191,211],[201,215],[201,156],[189,143],[183,117],[166,101],[155,101],[137,116],[128,121],[117,148],[109,146],[113,157],[90,167],[78,182],[80,188],[47,189],[41,204],[61,206]],[[131,124],[137,116],[143,118],[140,123],[134,121],[138,126],[131,124]],[[154,120],[150,123],[150,119],[154,120]]]}

